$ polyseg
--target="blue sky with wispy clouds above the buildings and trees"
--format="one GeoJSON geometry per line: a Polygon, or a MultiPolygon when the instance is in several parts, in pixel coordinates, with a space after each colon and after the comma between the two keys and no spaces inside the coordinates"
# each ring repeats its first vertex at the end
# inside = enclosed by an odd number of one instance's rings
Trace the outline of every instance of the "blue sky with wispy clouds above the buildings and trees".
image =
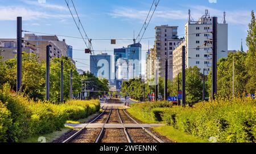
{"type": "MultiPolygon", "coordinates": [[[[45,0],[0,0],[0,38],[16,37],[16,16],[23,16],[23,30],[26,31],[80,37],[64,0],[46,0],[46,3],[40,1],[45,0]]],[[[135,36],[138,35],[152,0],[73,0],[73,2],[89,38],[133,38],[134,31],[135,36]]],[[[253,0],[160,0],[144,37],[154,37],[154,27],[162,24],[177,25],[179,35],[184,35],[188,9],[191,9],[194,20],[208,9],[210,15],[218,16],[218,22],[221,22],[223,12],[226,11],[226,21],[229,24],[229,50],[240,49],[241,39],[243,39],[243,48],[247,50],[245,38],[250,22],[250,11],[256,11],[255,6],[256,1],[253,0]]],[[[74,12],[73,8],[71,9],[74,12]]],[[[81,39],[67,37],[65,39],[73,49],[85,49],[81,39]]],[[[142,50],[148,49],[148,42],[152,48],[154,39],[143,40],[142,50]]],[[[92,42],[94,50],[103,52],[132,43],[129,40],[117,40],[116,45],[110,45],[109,40],[92,42]]],[[[142,67],[145,63],[145,53],[142,52],[142,67]]],[[[74,50],[73,58],[79,58],[76,60],[89,64],[88,60],[82,60],[89,59],[89,55],[82,51],[74,50]]],[[[88,70],[88,66],[82,63],[77,63],[77,67],[88,70]]],[[[142,71],[144,74],[144,69],[142,71]]]]}

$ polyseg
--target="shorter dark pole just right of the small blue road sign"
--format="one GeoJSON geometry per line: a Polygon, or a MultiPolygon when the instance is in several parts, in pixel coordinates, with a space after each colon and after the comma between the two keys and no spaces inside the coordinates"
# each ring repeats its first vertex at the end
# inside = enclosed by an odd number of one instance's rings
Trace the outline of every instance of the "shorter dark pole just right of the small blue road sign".
{"type": "Polygon", "coordinates": [[[185,76],[186,76],[186,65],[185,65],[185,55],[186,55],[186,48],[182,46],[182,106],[185,107],[186,104],[186,90],[185,90],[185,76]]]}

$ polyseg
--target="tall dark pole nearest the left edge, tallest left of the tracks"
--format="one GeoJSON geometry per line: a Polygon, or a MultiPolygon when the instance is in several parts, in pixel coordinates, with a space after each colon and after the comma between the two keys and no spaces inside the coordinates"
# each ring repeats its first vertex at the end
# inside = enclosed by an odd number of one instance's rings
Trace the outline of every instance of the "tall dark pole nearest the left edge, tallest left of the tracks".
{"type": "Polygon", "coordinates": [[[17,80],[16,92],[22,91],[22,17],[17,17],[17,80]]]}

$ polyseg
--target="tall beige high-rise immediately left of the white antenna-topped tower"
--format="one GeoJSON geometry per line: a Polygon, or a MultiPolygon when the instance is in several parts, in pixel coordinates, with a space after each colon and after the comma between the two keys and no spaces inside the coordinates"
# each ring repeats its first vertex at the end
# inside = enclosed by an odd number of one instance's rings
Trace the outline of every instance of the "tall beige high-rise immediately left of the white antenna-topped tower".
{"type": "Polygon", "coordinates": [[[164,77],[168,59],[168,79],[172,80],[172,52],[181,40],[177,36],[177,26],[161,25],[155,27],[156,59],[159,60],[159,76],[164,77]]]}

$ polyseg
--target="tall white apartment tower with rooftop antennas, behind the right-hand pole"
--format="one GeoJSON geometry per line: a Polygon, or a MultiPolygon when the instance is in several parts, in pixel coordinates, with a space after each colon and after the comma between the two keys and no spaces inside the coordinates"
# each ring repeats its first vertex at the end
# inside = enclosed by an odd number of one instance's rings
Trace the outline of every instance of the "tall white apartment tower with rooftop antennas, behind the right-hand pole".
{"type": "MultiPolygon", "coordinates": [[[[204,68],[206,75],[212,67],[212,44],[208,43],[212,40],[212,19],[209,11],[205,10],[205,15],[198,21],[194,22],[189,18],[188,23],[185,24],[186,66],[197,66],[202,73],[204,68]],[[205,42],[207,42],[206,46],[205,42]]],[[[181,48],[178,46],[176,48],[175,55],[180,55],[181,48]]],[[[228,24],[225,20],[217,26],[217,60],[222,57],[228,57],[228,24]]],[[[181,61],[177,62],[175,65],[181,65],[181,61]]],[[[177,70],[174,71],[174,76],[177,72],[177,70]]]]}

